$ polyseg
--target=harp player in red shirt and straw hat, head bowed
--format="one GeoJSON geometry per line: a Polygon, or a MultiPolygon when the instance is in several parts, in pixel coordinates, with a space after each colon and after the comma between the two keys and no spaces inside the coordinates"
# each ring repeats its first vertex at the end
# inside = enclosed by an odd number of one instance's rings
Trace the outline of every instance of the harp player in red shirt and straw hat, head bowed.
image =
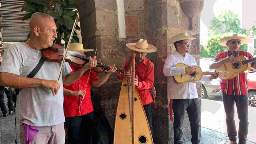
{"type": "MultiPolygon", "coordinates": [[[[150,60],[146,58],[147,53],[153,53],[157,51],[157,48],[153,45],[149,45],[147,40],[140,39],[137,43],[128,43],[126,45],[132,52],[136,53],[136,61],[135,61],[135,86],[137,87],[140,100],[144,107],[148,124],[150,126],[150,131],[153,134],[153,126],[152,126],[152,105],[153,98],[148,90],[153,86],[154,83],[154,64],[150,60]]],[[[118,74],[118,79],[123,79],[126,77],[131,77],[131,73],[128,70],[129,63],[131,62],[131,58],[126,60],[122,69],[125,70],[123,74],[118,74]]]]}

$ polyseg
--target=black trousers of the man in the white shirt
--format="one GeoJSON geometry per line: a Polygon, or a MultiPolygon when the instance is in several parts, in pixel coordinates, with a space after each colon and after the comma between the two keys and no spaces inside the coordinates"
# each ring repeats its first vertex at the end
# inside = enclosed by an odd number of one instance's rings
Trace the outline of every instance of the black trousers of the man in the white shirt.
{"type": "Polygon", "coordinates": [[[190,122],[192,144],[199,144],[199,122],[200,122],[200,103],[198,98],[195,99],[173,99],[173,131],[174,144],[182,144],[182,129],[185,110],[188,112],[190,122]]]}

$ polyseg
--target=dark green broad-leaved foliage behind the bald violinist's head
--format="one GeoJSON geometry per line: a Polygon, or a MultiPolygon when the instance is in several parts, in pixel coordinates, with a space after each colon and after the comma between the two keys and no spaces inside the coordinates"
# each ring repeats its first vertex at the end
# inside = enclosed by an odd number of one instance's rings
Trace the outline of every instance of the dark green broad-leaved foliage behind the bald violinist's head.
{"type": "MultiPolygon", "coordinates": [[[[35,12],[44,12],[55,19],[57,26],[56,39],[58,44],[61,44],[61,39],[67,45],[68,38],[70,37],[76,14],[78,13],[75,0],[23,0],[26,3],[22,5],[21,11],[26,11],[24,20],[29,20],[35,12]]],[[[76,30],[80,27],[76,25],[76,30]]],[[[30,34],[28,35],[30,37],[30,34]]],[[[77,34],[74,32],[72,39],[79,42],[77,34]]]]}

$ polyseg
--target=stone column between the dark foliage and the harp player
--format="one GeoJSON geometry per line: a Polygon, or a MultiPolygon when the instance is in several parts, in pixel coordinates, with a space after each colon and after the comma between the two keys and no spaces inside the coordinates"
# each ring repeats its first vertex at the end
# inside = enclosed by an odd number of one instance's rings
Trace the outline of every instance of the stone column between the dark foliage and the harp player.
{"type": "MultiPolygon", "coordinates": [[[[83,46],[86,49],[97,49],[97,60],[122,66],[125,62],[125,41],[118,34],[117,1],[77,0],[76,4],[79,5],[83,46]]],[[[94,56],[94,52],[87,55],[94,56]]],[[[99,77],[103,75],[105,73],[98,74],[99,77]]],[[[99,95],[102,110],[113,130],[120,87],[121,80],[114,73],[101,87],[91,89],[99,95]]]]}

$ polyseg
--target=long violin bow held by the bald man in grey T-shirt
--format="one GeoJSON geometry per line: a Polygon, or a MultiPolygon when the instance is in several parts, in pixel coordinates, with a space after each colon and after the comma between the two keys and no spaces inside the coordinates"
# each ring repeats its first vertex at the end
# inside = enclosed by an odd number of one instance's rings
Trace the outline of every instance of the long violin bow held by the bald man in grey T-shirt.
{"type": "Polygon", "coordinates": [[[57,77],[57,82],[59,82],[59,80],[60,80],[60,74],[61,74],[61,71],[62,71],[62,69],[63,69],[65,59],[66,59],[65,56],[67,56],[68,49],[69,49],[69,45],[70,45],[71,39],[72,39],[72,37],[73,37],[74,31],[75,31],[75,27],[76,27],[76,23],[78,22],[78,19],[79,19],[79,13],[76,14],[76,19],[75,19],[75,22],[74,22],[72,31],[71,31],[71,33],[70,33],[70,37],[69,37],[69,39],[68,39],[67,48],[66,48],[66,50],[65,50],[65,54],[63,55],[64,57],[63,57],[63,60],[62,60],[62,62],[61,62],[61,65],[60,65],[60,71],[59,71],[59,74],[58,74],[58,77],[57,77]]]}

